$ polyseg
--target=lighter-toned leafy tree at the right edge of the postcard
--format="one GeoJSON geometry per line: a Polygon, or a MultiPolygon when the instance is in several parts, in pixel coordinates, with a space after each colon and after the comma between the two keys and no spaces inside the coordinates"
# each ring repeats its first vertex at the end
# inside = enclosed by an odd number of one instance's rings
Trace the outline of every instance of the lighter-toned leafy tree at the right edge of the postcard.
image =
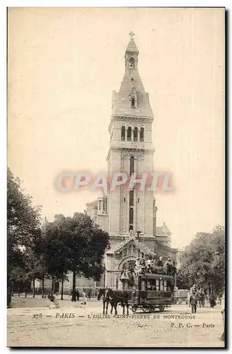
{"type": "MultiPolygon", "coordinates": [[[[216,291],[224,286],[225,230],[219,225],[212,234],[199,232],[181,256],[182,278],[216,291]]],[[[192,284],[191,284],[192,285],[192,284]]]]}

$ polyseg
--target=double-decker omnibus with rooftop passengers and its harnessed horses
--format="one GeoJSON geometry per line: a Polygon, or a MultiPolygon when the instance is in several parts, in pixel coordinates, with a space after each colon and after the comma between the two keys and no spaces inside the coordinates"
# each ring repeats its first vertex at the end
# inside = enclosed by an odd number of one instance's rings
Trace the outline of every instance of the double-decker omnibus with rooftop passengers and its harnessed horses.
{"type": "Polygon", "coordinates": [[[160,312],[165,307],[170,307],[174,302],[172,293],[174,290],[175,267],[170,263],[166,266],[149,264],[144,265],[143,258],[137,258],[136,265],[125,268],[121,273],[120,288],[111,289],[109,287],[99,290],[97,299],[103,300],[103,313],[107,314],[108,305],[111,304],[111,314],[113,308],[117,314],[117,305],[120,303],[125,314],[125,307],[131,307],[132,312],[142,309],[144,312],[160,312]]]}

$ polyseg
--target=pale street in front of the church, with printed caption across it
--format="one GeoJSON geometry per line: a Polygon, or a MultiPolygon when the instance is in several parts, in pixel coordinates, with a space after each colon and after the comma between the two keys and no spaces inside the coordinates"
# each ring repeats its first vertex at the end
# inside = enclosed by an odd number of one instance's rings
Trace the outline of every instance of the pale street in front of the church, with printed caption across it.
{"type": "MultiPolygon", "coordinates": [[[[59,297],[57,297],[59,299],[59,297]]],[[[102,315],[102,302],[87,305],[58,300],[60,309],[49,309],[40,296],[13,297],[8,309],[8,346],[43,347],[223,347],[221,307],[207,304],[192,314],[186,304],[150,314],[129,311],[123,318],[102,315]]],[[[109,308],[110,312],[110,308],[109,308]]]]}

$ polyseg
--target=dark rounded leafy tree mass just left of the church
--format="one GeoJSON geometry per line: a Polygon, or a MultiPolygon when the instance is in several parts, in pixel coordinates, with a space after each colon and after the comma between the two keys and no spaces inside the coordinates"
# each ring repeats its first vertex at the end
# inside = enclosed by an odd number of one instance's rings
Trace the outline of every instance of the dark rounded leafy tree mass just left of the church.
{"type": "Polygon", "coordinates": [[[77,275],[100,280],[104,273],[102,264],[109,247],[109,234],[94,225],[89,216],[78,212],[73,217],[57,215],[46,234],[50,244],[47,259],[53,278],[58,279],[71,270],[73,290],[77,275]]]}

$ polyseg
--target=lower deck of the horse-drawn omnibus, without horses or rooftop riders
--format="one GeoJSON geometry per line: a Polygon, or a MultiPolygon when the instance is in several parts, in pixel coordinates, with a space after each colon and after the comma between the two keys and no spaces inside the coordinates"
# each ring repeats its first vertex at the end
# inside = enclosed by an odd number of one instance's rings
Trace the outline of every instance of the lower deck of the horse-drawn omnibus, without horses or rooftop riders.
{"type": "Polygon", "coordinates": [[[160,312],[173,304],[174,276],[159,273],[138,274],[133,280],[122,277],[123,290],[128,293],[128,304],[132,312],[142,309],[143,312],[160,312]]]}

